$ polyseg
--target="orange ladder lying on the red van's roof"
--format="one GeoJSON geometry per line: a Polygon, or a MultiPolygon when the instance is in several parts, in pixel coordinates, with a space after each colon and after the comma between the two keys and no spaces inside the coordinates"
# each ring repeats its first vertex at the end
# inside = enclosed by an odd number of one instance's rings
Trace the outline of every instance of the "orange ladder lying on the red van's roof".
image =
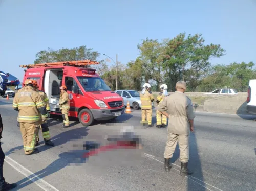
{"type": "Polygon", "coordinates": [[[52,63],[41,63],[41,64],[29,64],[29,65],[20,65],[22,68],[38,68],[38,67],[54,67],[54,66],[75,66],[82,67],[86,65],[95,65],[99,62],[91,60],[79,60],[79,61],[65,61],[65,62],[52,62],[52,63]]]}

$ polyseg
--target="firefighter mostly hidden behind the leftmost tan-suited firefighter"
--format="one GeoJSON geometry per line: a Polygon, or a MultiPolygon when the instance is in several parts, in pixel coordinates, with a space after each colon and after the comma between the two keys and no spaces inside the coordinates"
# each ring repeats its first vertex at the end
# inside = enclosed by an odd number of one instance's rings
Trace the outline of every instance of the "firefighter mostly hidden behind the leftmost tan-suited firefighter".
{"type": "MultiPolygon", "coordinates": [[[[40,94],[42,100],[46,104],[46,110],[48,112],[48,117],[49,117],[49,115],[50,115],[50,106],[49,106],[49,99],[48,99],[47,94],[44,91],[40,91],[38,89],[39,86],[38,86],[36,80],[34,80],[34,88],[35,88],[35,91],[40,94]]],[[[47,120],[42,120],[41,119],[40,129],[42,131],[42,137],[44,137],[45,144],[49,145],[49,146],[54,146],[54,143],[51,141],[51,135],[50,135],[50,132],[49,132],[47,120]]],[[[36,144],[35,144],[35,146],[38,146],[38,145],[39,145],[39,134],[36,136],[36,144]]]]}

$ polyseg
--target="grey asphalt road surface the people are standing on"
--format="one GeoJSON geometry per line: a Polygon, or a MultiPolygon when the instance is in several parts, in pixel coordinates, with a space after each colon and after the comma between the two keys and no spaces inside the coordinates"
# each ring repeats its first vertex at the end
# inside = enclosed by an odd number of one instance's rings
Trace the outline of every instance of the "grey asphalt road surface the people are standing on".
{"type": "Polygon", "coordinates": [[[165,172],[163,168],[167,130],[144,129],[140,110],[133,109],[112,122],[90,127],[73,120],[72,127],[62,128],[61,118],[54,118],[49,128],[56,146],[45,146],[39,132],[40,153],[25,156],[12,100],[0,98],[0,113],[4,121],[4,177],[18,184],[14,190],[256,190],[254,117],[243,117],[245,120],[235,115],[196,113],[189,161],[194,174],[181,177],[178,147],[173,169],[165,172]],[[130,125],[141,135],[143,150],[102,152],[81,160],[84,150],[73,146],[85,141],[104,145],[106,135],[118,135],[130,125]]]}

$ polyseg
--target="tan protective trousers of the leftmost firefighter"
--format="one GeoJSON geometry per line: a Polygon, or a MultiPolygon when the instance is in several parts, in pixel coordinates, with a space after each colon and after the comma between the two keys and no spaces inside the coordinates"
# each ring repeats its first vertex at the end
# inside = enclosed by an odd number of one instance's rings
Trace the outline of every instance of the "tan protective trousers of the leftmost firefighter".
{"type": "Polygon", "coordinates": [[[30,154],[35,149],[36,136],[39,132],[39,123],[19,122],[20,131],[22,132],[23,148],[25,154],[30,154]]]}

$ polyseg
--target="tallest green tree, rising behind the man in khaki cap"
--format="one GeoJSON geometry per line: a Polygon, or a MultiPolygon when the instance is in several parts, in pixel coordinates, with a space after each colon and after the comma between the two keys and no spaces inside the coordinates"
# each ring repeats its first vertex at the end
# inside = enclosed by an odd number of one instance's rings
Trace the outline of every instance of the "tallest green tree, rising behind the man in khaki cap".
{"type": "Polygon", "coordinates": [[[166,77],[173,85],[184,80],[191,90],[195,90],[211,66],[209,59],[225,55],[220,44],[204,45],[204,42],[201,34],[189,34],[186,38],[185,33],[167,42],[162,61],[163,68],[168,71],[166,77]]]}

